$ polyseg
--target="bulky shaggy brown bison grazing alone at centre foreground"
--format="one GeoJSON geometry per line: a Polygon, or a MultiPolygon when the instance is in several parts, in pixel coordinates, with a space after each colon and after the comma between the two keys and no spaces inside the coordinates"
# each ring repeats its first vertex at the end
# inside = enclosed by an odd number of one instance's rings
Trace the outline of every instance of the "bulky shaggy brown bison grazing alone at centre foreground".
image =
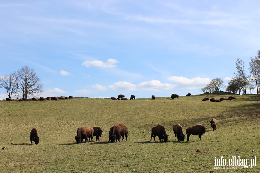
{"type": "MultiPolygon", "coordinates": [[[[120,142],[120,138],[122,136],[121,142],[126,138],[125,142],[127,142],[128,128],[122,124],[116,124],[112,126],[109,130],[109,141],[112,143],[120,142]]],[[[109,142],[108,141],[108,142],[109,142]]]]}

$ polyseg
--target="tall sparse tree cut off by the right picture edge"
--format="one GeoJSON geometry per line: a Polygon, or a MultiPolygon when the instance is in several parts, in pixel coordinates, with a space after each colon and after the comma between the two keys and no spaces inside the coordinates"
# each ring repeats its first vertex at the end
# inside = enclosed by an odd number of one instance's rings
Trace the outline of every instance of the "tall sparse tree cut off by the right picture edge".
{"type": "Polygon", "coordinates": [[[258,94],[258,85],[260,82],[260,50],[258,50],[257,56],[255,56],[255,58],[250,58],[248,70],[251,80],[256,84],[258,94]]]}

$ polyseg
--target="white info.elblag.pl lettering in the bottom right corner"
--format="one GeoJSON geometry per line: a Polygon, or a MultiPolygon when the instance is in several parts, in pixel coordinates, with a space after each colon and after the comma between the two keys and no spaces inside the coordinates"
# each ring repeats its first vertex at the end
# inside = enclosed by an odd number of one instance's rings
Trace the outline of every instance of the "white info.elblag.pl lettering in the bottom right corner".
{"type": "Polygon", "coordinates": [[[221,156],[219,159],[215,157],[215,169],[242,169],[244,168],[253,168],[257,166],[256,156],[252,159],[243,159],[240,156],[232,156],[232,158],[228,159],[228,161],[221,156]],[[250,162],[250,163],[249,163],[250,162]],[[222,166],[222,167],[221,167],[222,166]]]}

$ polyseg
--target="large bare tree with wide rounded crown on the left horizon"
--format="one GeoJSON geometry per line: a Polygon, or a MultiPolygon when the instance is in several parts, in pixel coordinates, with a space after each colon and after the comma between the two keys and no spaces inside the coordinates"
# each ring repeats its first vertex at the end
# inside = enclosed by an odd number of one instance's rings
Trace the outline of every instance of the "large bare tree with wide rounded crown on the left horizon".
{"type": "Polygon", "coordinates": [[[30,69],[28,66],[24,66],[17,70],[18,88],[23,94],[23,97],[27,99],[27,95],[38,95],[43,92],[43,84],[34,69],[30,69]]]}

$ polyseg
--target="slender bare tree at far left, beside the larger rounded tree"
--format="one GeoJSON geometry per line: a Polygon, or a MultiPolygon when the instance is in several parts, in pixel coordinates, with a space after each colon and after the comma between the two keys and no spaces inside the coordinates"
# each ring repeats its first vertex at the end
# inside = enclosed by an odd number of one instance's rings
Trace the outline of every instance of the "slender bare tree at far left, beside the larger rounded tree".
{"type": "Polygon", "coordinates": [[[10,73],[10,76],[6,75],[3,77],[3,88],[6,90],[8,97],[13,99],[14,91],[16,89],[16,80],[12,73],[10,73]]]}

